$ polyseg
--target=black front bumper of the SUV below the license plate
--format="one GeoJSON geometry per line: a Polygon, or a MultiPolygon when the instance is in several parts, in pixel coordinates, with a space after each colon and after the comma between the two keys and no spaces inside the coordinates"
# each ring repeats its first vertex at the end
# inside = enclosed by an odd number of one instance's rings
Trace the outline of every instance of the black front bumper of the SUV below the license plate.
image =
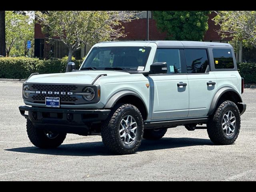
{"type": "Polygon", "coordinates": [[[30,119],[38,128],[56,129],[88,128],[90,123],[106,120],[111,110],[70,110],[20,106],[20,114],[30,119]],[[28,111],[28,115],[25,114],[28,111]]]}

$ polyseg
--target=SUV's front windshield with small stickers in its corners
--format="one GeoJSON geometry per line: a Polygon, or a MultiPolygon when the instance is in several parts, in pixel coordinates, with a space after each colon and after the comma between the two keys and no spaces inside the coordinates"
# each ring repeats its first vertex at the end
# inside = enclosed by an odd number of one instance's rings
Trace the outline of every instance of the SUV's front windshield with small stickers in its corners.
{"type": "Polygon", "coordinates": [[[144,70],[150,47],[96,47],[81,70],[144,70]]]}

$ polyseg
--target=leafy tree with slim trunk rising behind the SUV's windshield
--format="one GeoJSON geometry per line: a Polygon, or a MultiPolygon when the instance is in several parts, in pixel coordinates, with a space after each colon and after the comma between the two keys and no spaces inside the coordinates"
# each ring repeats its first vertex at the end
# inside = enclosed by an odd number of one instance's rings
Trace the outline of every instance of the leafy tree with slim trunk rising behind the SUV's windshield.
{"type": "Polygon", "coordinates": [[[125,36],[121,22],[136,18],[135,11],[38,11],[35,15],[42,31],[49,34],[48,42],[58,40],[68,47],[68,62],[84,44],[125,36]]]}

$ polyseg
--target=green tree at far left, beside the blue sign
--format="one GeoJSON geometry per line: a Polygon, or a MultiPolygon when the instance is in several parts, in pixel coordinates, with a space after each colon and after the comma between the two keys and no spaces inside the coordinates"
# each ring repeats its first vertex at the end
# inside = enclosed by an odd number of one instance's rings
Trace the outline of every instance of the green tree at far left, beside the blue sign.
{"type": "Polygon", "coordinates": [[[34,42],[34,23],[32,18],[12,11],[6,11],[5,18],[6,55],[10,55],[11,49],[17,42],[22,42],[24,56],[26,56],[28,52],[26,48],[27,40],[34,42]]]}

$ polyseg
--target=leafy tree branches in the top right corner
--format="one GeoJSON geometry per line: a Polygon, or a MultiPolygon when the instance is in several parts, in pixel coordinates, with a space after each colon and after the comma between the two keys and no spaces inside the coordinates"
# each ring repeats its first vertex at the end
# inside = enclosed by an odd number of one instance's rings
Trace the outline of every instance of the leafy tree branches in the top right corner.
{"type": "Polygon", "coordinates": [[[256,11],[215,11],[216,25],[220,25],[222,38],[232,37],[231,43],[242,42],[243,46],[256,48],[256,11]]]}

